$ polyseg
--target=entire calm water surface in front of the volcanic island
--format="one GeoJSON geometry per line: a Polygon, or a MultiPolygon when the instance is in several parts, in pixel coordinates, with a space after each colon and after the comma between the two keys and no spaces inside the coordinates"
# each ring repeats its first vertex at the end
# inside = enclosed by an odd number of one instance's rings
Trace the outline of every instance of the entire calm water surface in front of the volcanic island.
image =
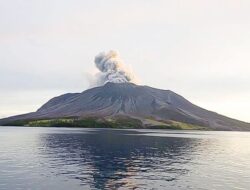
{"type": "Polygon", "coordinates": [[[250,133],[0,127],[0,190],[250,189],[250,133]]]}

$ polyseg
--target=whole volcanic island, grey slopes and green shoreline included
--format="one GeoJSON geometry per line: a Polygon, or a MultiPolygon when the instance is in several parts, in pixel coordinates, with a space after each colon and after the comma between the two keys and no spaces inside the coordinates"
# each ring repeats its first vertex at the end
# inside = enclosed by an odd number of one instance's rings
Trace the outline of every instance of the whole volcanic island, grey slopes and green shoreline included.
{"type": "Polygon", "coordinates": [[[248,131],[250,124],[198,107],[170,91],[111,83],[52,98],[36,112],[1,125],[248,131]]]}

